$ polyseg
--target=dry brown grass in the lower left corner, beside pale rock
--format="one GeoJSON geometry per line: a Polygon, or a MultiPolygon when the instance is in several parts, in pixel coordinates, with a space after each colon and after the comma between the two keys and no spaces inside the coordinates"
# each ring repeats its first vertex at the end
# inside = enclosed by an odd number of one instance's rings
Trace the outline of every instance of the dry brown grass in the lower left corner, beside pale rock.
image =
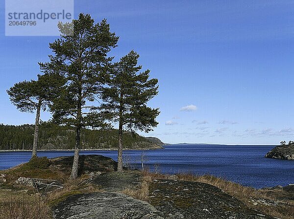
{"type": "Polygon", "coordinates": [[[68,180],[63,189],[38,195],[31,189],[0,189],[0,219],[51,219],[50,207],[67,197],[82,193],[101,191],[95,185],[80,185],[87,175],[68,180]]]}

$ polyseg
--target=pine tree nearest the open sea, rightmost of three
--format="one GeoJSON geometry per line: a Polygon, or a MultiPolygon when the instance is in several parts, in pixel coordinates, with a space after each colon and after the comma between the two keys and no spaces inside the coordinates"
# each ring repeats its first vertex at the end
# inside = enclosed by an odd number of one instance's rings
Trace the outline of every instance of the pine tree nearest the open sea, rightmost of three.
{"type": "Polygon", "coordinates": [[[158,80],[150,79],[146,70],[139,72],[139,55],[130,51],[115,63],[110,73],[107,87],[102,89],[100,110],[111,115],[112,121],[119,123],[118,171],[123,171],[123,128],[130,131],[152,131],[157,126],[159,109],[151,109],[147,102],[158,93],[158,80]]]}

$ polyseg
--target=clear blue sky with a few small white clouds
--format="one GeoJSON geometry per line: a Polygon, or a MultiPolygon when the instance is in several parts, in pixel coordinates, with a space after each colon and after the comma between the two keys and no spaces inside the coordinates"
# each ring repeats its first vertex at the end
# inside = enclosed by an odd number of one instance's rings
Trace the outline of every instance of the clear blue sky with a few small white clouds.
{"type": "MultiPolygon", "coordinates": [[[[4,18],[4,2],[0,16],[4,18]]],[[[110,55],[134,49],[159,79],[167,143],[279,144],[294,140],[294,1],[75,0],[74,16],[106,18],[120,36],[110,55]]],[[[36,78],[56,37],[5,37],[0,22],[0,123],[33,123],[6,89],[36,78]]],[[[47,120],[49,113],[43,113],[47,120]]]]}

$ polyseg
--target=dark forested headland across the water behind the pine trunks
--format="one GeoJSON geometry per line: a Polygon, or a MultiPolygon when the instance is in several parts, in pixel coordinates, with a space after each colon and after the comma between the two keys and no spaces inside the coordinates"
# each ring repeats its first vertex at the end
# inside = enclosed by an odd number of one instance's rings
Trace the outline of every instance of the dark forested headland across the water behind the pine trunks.
{"type": "MultiPolygon", "coordinates": [[[[34,125],[3,125],[0,124],[0,150],[24,149],[31,150],[33,145],[34,125]]],[[[75,132],[72,128],[41,126],[38,149],[62,150],[74,149],[75,132]]],[[[118,145],[118,130],[89,130],[81,131],[82,149],[116,148],[118,145]]],[[[152,148],[154,142],[137,133],[125,131],[123,143],[126,148],[152,148]]]]}

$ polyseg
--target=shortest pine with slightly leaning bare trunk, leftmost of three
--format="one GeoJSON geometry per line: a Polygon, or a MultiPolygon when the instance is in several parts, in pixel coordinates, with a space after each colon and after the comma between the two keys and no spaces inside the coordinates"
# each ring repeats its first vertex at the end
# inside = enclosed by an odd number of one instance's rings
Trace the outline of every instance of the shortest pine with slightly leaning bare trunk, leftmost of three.
{"type": "Polygon", "coordinates": [[[10,101],[22,112],[36,111],[32,157],[37,155],[41,110],[45,111],[61,86],[62,78],[56,74],[38,75],[38,80],[23,81],[7,90],[10,101]]]}

